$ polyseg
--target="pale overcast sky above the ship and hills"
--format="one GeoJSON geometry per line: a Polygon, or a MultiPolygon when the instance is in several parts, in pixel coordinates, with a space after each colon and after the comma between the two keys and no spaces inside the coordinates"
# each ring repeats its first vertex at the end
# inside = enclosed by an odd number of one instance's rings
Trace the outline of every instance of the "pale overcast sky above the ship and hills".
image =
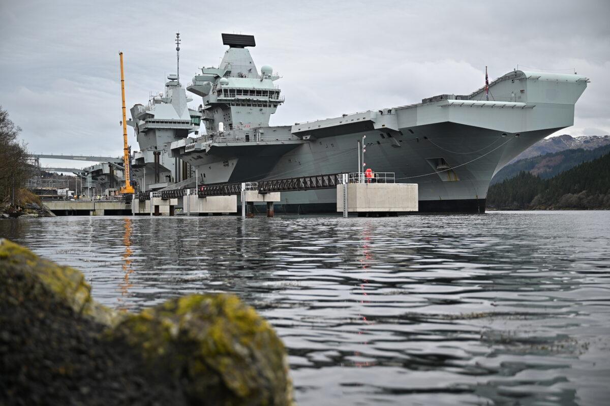
{"type": "Polygon", "coordinates": [[[118,156],[118,52],[129,109],[175,73],[176,32],[184,84],[218,65],[221,32],[235,32],[253,34],[257,67],[282,76],[286,101],[272,125],[467,94],[484,84],[486,65],[495,79],[519,64],[589,77],[574,126],[558,134],[605,135],[609,16],[608,0],[2,1],[0,105],[32,152],[118,156]]]}

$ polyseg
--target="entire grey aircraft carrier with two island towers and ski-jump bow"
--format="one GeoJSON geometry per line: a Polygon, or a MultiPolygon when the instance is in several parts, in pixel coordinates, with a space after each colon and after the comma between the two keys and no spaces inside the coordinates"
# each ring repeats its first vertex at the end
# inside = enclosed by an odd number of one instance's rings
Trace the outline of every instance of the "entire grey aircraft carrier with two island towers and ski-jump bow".
{"type": "MultiPolygon", "coordinates": [[[[483,213],[493,174],[536,141],[572,126],[589,82],[578,74],[515,69],[466,95],[270,126],[284,103],[279,75],[268,65],[257,69],[248,49],[256,46],[252,35],[222,38],[228,49],[220,65],[201,68],[186,87],[201,97],[199,109],[188,109],[173,75],[165,95],[131,109],[142,149],[134,170],[146,190],[185,184],[195,174],[198,185],[210,185],[371,168],[418,183],[420,212],[483,213]]],[[[336,212],[336,191],[282,193],[276,210],[336,212]]]]}

